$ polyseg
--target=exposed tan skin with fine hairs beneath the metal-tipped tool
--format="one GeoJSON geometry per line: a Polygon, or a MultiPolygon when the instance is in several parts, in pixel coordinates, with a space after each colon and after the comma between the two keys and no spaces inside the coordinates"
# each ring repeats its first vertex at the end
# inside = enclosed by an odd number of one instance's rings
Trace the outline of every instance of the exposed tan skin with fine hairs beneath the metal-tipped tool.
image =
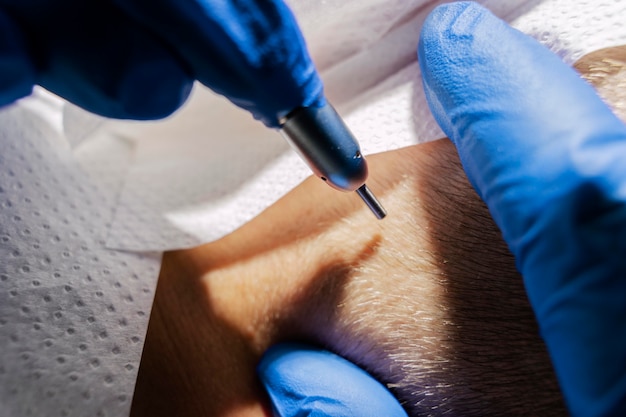
{"type": "MultiPolygon", "coordinates": [[[[577,68],[611,94],[624,51],[577,68]]],[[[454,146],[368,163],[383,221],[310,178],[223,239],[164,255],[132,416],[270,416],[255,366],[281,341],[359,364],[410,415],[566,414],[514,260],[454,146]]]]}

